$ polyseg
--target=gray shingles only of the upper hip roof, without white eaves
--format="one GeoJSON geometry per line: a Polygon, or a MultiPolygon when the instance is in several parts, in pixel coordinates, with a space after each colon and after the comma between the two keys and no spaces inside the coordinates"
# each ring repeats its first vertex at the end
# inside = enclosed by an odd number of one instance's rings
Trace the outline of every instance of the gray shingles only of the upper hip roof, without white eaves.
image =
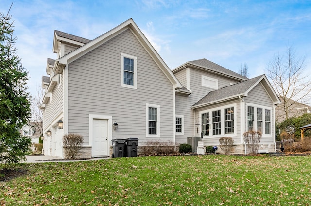
{"type": "Polygon", "coordinates": [[[244,77],[244,76],[242,76],[242,75],[240,75],[234,71],[226,69],[226,68],[224,68],[224,67],[222,67],[222,66],[220,66],[214,62],[211,62],[207,59],[193,60],[193,61],[190,61],[190,63],[201,66],[201,67],[205,67],[207,69],[214,70],[214,71],[217,71],[217,72],[220,72],[220,73],[232,76],[232,77],[236,77],[239,79],[247,79],[246,77],[244,77]]]}

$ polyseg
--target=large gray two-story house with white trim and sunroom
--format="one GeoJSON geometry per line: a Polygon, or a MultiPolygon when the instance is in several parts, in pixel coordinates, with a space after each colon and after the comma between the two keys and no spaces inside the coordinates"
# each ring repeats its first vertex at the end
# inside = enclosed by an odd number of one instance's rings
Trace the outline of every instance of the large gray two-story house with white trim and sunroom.
{"type": "Polygon", "coordinates": [[[42,78],[44,155],[63,157],[68,133],[84,137],[83,157],[111,155],[116,138],[137,137],[141,147],[201,134],[205,145],[233,137],[244,153],[248,129],[262,130],[262,148],[276,149],[280,102],[265,75],[247,79],[206,59],[171,70],[132,19],[94,40],[55,31],[53,51],[42,78]]]}

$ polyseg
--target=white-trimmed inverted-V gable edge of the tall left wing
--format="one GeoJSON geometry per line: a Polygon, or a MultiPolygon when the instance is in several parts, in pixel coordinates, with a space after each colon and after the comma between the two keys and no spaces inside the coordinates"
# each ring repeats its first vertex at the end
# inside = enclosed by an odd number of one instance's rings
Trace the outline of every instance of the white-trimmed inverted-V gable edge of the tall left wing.
{"type": "Polygon", "coordinates": [[[180,84],[178,79],[175,77],[171,69],[169,69],[169,67],[165,64],[160,55],[155,51],[154,47],[151,45],[151,43],[148,41],[145,35],[140,31],[140,29],[138,28],[138,26],[136,25],[136,23],[133,21],[132,18],[121,23],[119,26],[113,28],[112,30],[102,34],[101,36],[95,38],[94,40],[87,42],[78,49],[71,51],[67,55],[57,59],[56,64],[68,65],[69,63],[73,62],[74,60],[88,53],[89,51],[94,50],[95,48],[99,47],[108,40],[112,39],[113,37],[121,34],[122,32],[128,29],[130,29],[131,32],[136,36],[140,44],[149,53],[149,55],[155,61],[157,66],[162,70],[162,72],[170,80],[170,82],[174,85],[174,87],[181,88],[182,85],[180,84]]]}

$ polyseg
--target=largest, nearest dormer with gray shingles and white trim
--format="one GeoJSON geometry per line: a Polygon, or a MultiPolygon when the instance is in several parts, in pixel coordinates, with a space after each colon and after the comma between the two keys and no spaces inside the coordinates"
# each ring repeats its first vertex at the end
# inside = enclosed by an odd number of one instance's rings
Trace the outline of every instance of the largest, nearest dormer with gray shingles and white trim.
{"type": "Polygon", "coordinates": [[[67,34],[65,32],[54,31],[53,51],[57,53],[57,58],[61,58],[69,52],[85,45],[90,40],[67,34]]]}

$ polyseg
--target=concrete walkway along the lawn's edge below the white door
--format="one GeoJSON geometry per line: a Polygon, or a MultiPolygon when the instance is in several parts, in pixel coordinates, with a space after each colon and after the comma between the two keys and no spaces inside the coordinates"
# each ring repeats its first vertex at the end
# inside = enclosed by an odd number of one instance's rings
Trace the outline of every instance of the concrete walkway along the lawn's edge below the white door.
{"type": "Polygon", "coordinates": [[[44,163],[44,162],[73,162],[73,161],[92,161],[92,160],[100,160],[100,159],[110,159],[110,157],[96,157],[91,159],[82,159],[82,160],[64,160],[61,157],[55,156],[44,156],[44,155],[30,155],[26,156],[27,161],[23,161],[23,163],[44,163]]]}

